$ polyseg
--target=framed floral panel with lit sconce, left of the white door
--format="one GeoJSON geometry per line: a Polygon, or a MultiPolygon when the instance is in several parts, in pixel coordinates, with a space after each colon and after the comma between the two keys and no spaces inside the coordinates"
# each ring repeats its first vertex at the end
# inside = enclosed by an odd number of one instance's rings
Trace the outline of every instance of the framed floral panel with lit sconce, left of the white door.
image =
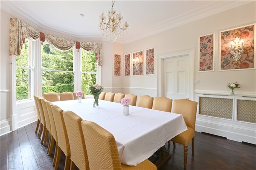
{"type": "Polygon", "coordinates": [[[143,50],[132,53],[132,75],[143,75],[143,50]]]}

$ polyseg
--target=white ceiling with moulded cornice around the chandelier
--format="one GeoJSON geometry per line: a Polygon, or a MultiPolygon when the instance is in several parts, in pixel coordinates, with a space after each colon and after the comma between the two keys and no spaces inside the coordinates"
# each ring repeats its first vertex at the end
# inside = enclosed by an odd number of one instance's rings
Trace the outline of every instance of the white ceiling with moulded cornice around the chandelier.
{"type": "MultiPolygon", "coordinates": [[[[128,34],[119,43],[128,43],[251,1],[216,0],[116,0],[114,10],[129,23],[128,34]]],[[[112,1],[85,0],[1,0],[1,8],[42,32],[79,40],[104,40],[99,15],[111,9],[112,1]],[[80,17],[79,14],[84,14],[80,17]]]]}

